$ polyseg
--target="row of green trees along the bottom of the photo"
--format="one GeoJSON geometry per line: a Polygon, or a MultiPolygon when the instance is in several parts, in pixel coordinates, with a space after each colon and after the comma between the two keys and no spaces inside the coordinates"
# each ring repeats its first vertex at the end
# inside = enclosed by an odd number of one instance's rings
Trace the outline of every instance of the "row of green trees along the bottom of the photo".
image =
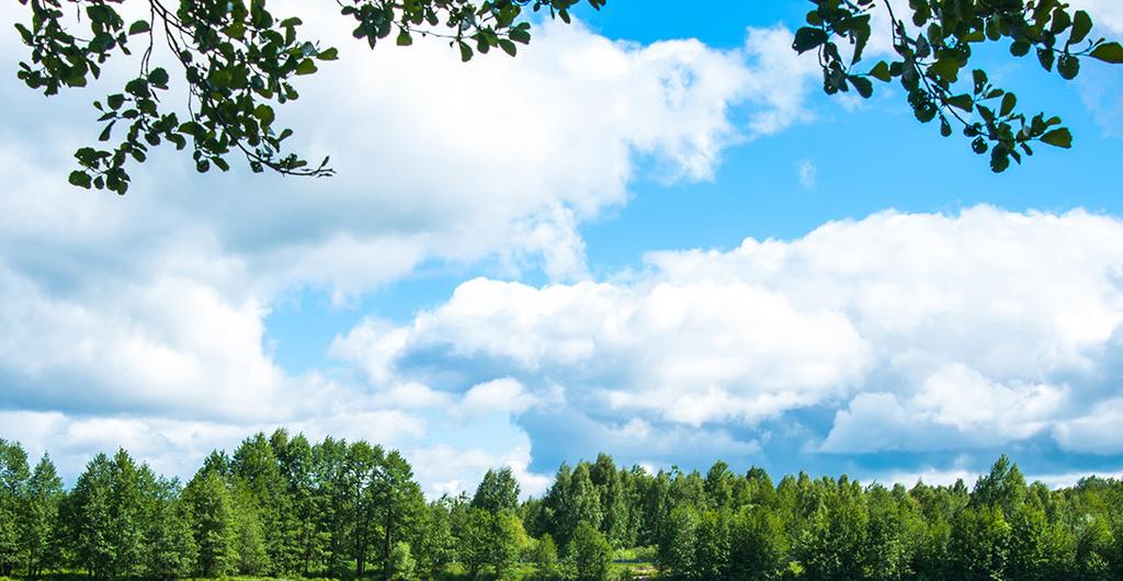
{"type": "Polygon", "coordinates": [[[718,580],[1120,580],[1123,482],[1050,489],[998,459],[973,488],[846,476],[563,464],[520,500],[510,468],[427,500],[396,451],[284,430],[212,452],[186,482],[127,451],[63,486],[0,440],[0,577],[454,577],[601,581],[622,560],[718,580]]]}

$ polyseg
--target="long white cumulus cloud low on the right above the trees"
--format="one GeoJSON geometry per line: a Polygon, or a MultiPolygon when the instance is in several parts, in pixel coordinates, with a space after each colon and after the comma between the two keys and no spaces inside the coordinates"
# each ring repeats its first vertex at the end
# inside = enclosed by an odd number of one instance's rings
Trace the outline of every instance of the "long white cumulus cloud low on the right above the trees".
{"type": "MultiPolygon", "coordinates": [[[[362,353],[394,338],[372,378],[458,367],[477,380],[557,382],[565,414],[652,446],[676,425],[751,434],[801,409],[833,409],[813,451],[994,450],[1042,435],[1066,450],[1116,451],[1110,437],[1089,444],[1114,417],[1099,404],[1119,378],[1115,219],[882,212],[792,241],[647,262],[611,283],[471,280],[407,325],[364,323],[339,344],[362,353]]],[[[544,415],[522,425],[544,431],[544,415]]]]}

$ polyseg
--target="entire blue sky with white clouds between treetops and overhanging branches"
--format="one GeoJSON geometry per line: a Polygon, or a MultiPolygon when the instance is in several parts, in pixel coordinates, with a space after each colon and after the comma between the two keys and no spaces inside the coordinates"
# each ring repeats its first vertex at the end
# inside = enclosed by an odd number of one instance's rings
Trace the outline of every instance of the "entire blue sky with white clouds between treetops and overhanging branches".
{"type": "Polygon", "coordinates": [[[314,182],[162,154],[124,199],[71,190],[90,93],[3,81],[0,437],[186,477],[287,425],[401,448],[431,494],[497,464],[540,491],[601,450],[1123,471],[1123,68],[986,55],[1077,136],[996,176],[897,91],[822,95],[788,48],[805,2],[610,4],[515,59],[340,39],[285,112],[336,160],[314,182]]]}

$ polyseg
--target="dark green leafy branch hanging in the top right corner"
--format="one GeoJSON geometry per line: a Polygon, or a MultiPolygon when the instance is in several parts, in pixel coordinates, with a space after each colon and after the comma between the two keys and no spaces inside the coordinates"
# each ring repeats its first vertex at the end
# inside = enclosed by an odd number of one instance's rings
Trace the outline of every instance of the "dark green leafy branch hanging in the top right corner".
{"type": "Polygon", "coordinates": [[[868,99],[874,81],[898,82],[920,122],[938,121],[944,137],[958,125],[976,154],[990,154],[995,173],[1032,156],[1035,142],[1070,148],[1072,135],[1058,117],[1022,112],[1017,96],[992,85],[986,71],[965,75],[980,46],[1007,42],[1012,56],[1032,53],[1043,70],[1067,81],[1079,74],[1081,58],[1123,63],[1123,46],[1094,38],[1092,17],[1058,0],[910,0],[907,20],[887,0],[811,1],[815,7],[793,48],[818,53],[828,94],[853,90],[868,99]],[[860,68],[871,11],[879,8],[889,13],[896,56],[860,68]],[[962,90],[961,77],[970,90],[962,90]]]}

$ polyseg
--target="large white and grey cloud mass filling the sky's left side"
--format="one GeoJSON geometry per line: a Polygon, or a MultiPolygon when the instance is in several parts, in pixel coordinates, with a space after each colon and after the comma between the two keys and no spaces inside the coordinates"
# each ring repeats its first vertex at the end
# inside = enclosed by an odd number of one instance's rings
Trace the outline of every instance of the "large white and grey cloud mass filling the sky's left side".
{"type": "MultiPolygon", "coordinates": [[[[63,182],[72,151],[97,135],[91,93],[48,101],[0,82],[13,112],[0,130],[0,436],[64,449],[56,459],[70,474],[90,453],[125,445],[189,476],[210,449],[279,424],[408,454],[435,441],[462,450],[446,425],[502,432],[489,422],[564,390],[503,375],[407,377],[398,367],[410,333],[374,320],[335,347],[362,380],[293,375],[263,345],[279,297],[314,288],[344,303],[431,262],[587,278],[578,228],[627,203],[641,160],[663,179],[707,179],[731,144],[806,116],[805,79],[761,81],[784,66],[769,45],[786,46],[779,29],[716,50],[547,24],[519,58],[463,64],[440,42],[371,52],[338,15],[289,9],[343,53],[279,111],[301,151],[332,154],[332,179],[198,176],[156,151],[125,197],[75,191],[63,182]]],[[[3,6],[0,20],[24,12],[3,6]]],[[[11,48],[0,68],[16,68],[15,39],[0,40],[11,48]]],[[[419,473],[464,485],[487,462],[529,462],[529,442],[515,455],[506,440],[476,450],[471,465],[419,473]]]]}

